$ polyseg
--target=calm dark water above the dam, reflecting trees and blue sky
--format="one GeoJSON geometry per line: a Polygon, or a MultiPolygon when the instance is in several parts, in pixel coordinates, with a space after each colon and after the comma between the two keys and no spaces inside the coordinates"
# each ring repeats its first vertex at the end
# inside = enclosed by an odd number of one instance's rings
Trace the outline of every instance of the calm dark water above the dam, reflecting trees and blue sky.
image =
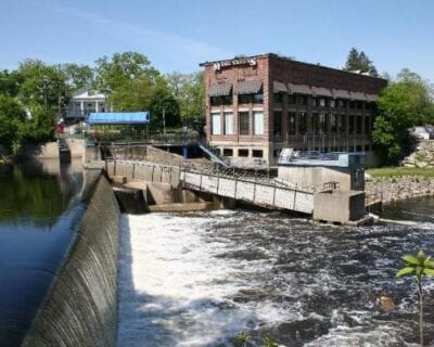
{"type": "Polygon", "coordinates": [[[84,207],[80,165],[0,167],[0,346],[18,346],[84,207]]]}

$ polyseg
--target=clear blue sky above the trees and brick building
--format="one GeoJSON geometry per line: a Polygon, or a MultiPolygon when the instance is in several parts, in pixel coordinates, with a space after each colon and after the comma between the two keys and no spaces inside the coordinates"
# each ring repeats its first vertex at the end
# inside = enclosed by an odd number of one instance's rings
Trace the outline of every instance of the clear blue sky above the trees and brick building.
{"type": "Polygon", "coordinates": [[[235,54],[340,67],[352,47],[379,72],[434,81],[432,0],[0,0],[0,69],[26,57],[92,65],[138,51],[162,72],[235,54]]]}

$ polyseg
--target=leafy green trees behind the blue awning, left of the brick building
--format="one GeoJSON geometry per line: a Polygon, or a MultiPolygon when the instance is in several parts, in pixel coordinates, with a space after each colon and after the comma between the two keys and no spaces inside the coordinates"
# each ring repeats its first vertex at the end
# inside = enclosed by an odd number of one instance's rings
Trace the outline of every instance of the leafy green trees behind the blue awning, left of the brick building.
{"type": "Polygon", "coordinates": [[[138,52],[102,56],[92,67],[26,60],[14,70],[0,72],[0,144],[18,154],[25,142],[52,140],[54,119],[65,116],[79,89],[105,93],[115,111],[151,112],[151,129],[159,127],[163,112],[167,127],[204,115],[201,72],[164,75],[138,52]]]}

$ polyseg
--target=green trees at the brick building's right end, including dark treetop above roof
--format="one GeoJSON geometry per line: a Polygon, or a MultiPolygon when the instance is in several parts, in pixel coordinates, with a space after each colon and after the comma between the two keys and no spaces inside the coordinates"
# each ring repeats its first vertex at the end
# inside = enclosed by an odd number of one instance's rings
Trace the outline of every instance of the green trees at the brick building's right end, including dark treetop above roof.
{"type": "MultiPolygon", "coordinates": [[[[380,77],[373,62],[363,51],[353,48],[344,67],[347,72],[380,77]]],[[[371,133],[375,152],[384,164],[394,165],[413,150],[409,129],[434,124],[434,91],[430,81],[408,68],[388,80],[378,100],[378,112],[371,133]]]]}

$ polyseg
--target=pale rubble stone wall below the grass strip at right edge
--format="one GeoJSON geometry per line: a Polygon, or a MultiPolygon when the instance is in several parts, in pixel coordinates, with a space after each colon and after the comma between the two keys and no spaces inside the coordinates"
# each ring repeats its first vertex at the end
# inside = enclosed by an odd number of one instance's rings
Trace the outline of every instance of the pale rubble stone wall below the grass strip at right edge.
{"type": "Polygon", "coordinates": [[[366,183],[365,190],[367,195],[381,195],[384,203],[409,197],[434,196],[434,179],[414,176],[375,178],[366,183]]]}

